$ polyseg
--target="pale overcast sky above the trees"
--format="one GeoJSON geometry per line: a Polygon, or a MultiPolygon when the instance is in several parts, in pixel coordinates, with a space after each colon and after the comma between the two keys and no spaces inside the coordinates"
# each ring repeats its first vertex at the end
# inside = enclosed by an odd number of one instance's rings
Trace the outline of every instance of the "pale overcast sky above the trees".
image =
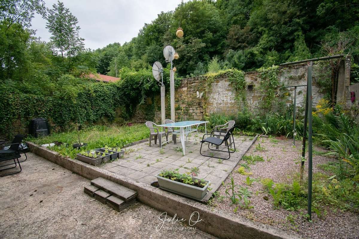
{"type": "MultiPolygon", "coordinates": [[[[187,2],[184,0],[183,2],[187,2]]],[[[80,37],[85,38],[85,47],[102,48],[109,43],[129,42],[137,36],[145,23],[157,18],[161,11],[174,10],[181,0],[62,0],[66,8],[79,20],[80,37]]],[[[51,8],[57,0],[45,0],[51,8]]],[[[46,20],[36,15],[32,29],[36,36],[48,41],[50,33],[45,28],[46,20]]]]}

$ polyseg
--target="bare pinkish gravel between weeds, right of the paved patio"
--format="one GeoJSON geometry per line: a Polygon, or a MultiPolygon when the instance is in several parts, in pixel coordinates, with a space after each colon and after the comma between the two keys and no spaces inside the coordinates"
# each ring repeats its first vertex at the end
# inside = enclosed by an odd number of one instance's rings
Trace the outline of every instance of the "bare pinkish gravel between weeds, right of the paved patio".
{"type": "MultiPolygon", "coordinates": [[[[273,140],[270,138],[258,138],[256,143],[248,150],[246,155],[259,155],[265,159],[265,162],[257,162],[255,165],[250,165],[253,174],[250,178],[271,178],[274,182],[291,183],[295,173],[299,172],[298,159],[301,156],[301,142],[297,141],[297,147],[292,147],[293,140],[286,138],[277,138],[273,140]],[[256,149],[258,143],[264,150],[258,151],[256,149]]],[[[325,151],[323,148],[314,147],[318,151],[325,151]]],[[[313,155],[313,172],[321,171],[317,168],[317,164],[323,164],[333,161],[330,157],[313,155]]],[[[234,209],[238,205],[231,205],[230,199],[226,196],[226,188],[229,190],[230,177],[233,176],[236,185],[248,187],[245,183],[246,175],[241,175],[237,172],[241,163],[232,171],[230,176],[224,182],[225,185],[219,188],[219,196],[213,199],[213,205],[218,209],[227,211],[231,214],[244,216],[254,221],[264,224],[276,226],[286,231],[292,231],[303,238],[359,238],[359,215],[351,212],[333,212],[327,210],[327,215],[323,218],[318,218],[316,214],[312,214],[312,223],[307,222],[300,212],[287,211],[285,209],[274,209],[272,196],[264,192],[263,186],[260,182],[253,182],[249,187],[252,192],[250,198],[252,209],[238,208],[234,213],[234,209]],[[257,195],[256,195],[257,194],[257,195]],[[263,197],[268,196],[269,200],[263,197]],[[288,215],[292,214],[290,220],[288,215]]],[[[306,162],[307,164],[307,162],[306,162]]],[[[306,165],[307,168],[307,165],[306,165]]],[[[248,171],[248,170],[247,170],[248,171]]],[[[304,172],[307,175],[307,171],[304,172]]],[[[303,210],[304,215],[306,210],[303,210]]]]}

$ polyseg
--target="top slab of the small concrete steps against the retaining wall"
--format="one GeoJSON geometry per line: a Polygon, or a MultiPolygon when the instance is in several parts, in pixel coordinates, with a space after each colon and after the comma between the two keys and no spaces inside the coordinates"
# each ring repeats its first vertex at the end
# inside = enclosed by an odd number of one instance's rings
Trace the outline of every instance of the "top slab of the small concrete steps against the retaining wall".
{"type": "Polygon", "coordinates": [[[92,180],[91,185],[115,197],[118,197],[119,199],[125,202],[130,202],[132,201],[132,199],[135,199],[137,196],[136,191],[104,178],[96,178],[92,180]]]}

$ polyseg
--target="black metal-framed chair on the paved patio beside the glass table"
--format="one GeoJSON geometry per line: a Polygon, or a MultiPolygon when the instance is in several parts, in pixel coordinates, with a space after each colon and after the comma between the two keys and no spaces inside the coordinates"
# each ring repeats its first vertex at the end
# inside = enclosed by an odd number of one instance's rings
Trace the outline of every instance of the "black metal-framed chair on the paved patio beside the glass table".
{"type": "Polygon", "coordinates": [[[203,138],[202,138],[202,141],[201,141],[200,154],[202,156],[206,156],[206,157],[219,158],[219,159],[229,159],[230,154],[236,152],[236,145],[234,144],[234,138],[233,138],[233,134],[232,134],[233,130],[234,130],[234,126],[232,128],[230,128],[230,129],[228,129],[228,131],[212,130],[212,132],[210,134],[204,134],[203,138]],[[219,132],[220,134],[219,135],[218,134],[213,134],[213,132],[219,132]],[[212,135],[212,136],[208,137],[208,138],[204,138],[205,135],[212,135]],[[223,137],[223,139],[221,139],[221,137],[223,137]],[[233,141],[233,143],[232,143],[233,146],[234,146],[234,151],[233,152],[231,152],[229,150],[229,145],[231,145],[231,144],[228,143],[228,139],[230,137],[232,137],[232,141],[233,141]],[[210,150],[219,151],[219,152],[227,152],[228,153],[228,158],[220,158],[220,157],[203,155],[202,152],[201,152],[203,143],[208,143],[208,149],[210,149],[210,150]],[[227,150],[211,149],[209,147],[209,145],[214,144],[214,145],[216,145],[216,148],[217,148],[218,146],[222,145],[223,143],[225,143],[225,146],[227,146],[228,151],[227,150]]]}

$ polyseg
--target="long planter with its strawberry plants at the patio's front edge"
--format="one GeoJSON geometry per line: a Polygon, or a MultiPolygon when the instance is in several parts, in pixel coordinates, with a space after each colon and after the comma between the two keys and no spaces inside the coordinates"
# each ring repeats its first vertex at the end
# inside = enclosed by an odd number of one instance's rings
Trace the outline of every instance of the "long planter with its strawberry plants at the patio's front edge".
{"type": "Polygon", "coordinates": [[[178,173],[178,169],[174,171],[164,170],[155,177],[157,177],[158,184],[163,190],[195,200],[203,199],[210,185],[210,181],[191,177],[185,173],[178,173]]]}

